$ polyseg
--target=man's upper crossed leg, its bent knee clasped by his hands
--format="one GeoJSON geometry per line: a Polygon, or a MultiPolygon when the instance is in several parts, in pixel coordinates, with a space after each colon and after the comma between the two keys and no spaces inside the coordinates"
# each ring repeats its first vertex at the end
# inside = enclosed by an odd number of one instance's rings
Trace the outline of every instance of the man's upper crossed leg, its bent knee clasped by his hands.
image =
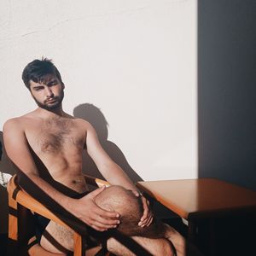
{"type": "MultiPolygon", "coordinates": [[[[185,239],[171,226],[160,221],[154,221],[149,227],[138,226],[143,215],[143,207],[141,199],[133,195],[131,191],[120,186],[111,186],[96,197],[96,204],[103,209],[119,212],[121,216],[121,224],[117,228],[119,233],[132,236],[132,239],[146,247],[149,252],[155,250],[154,255],[157,255],[158,251],[160,252],[159,247],[165,247],[168,250],[169,243],[163,238],[172,242],[178,256],[185,255],[185,239]]],[[[110,244],[110,250],[114,253],[113,247],[118,246],[120,242],[111,240],[110,244]]]]}

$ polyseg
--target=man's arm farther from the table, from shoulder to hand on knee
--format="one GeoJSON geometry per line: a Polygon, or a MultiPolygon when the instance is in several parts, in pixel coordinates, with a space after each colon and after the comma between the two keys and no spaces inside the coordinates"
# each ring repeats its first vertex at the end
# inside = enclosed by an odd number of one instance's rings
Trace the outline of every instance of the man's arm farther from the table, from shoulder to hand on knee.
{"type": "MultiPolygon", "coordinates": [[[[97,189],[81,199],[73,199],[61,194],[61,192],[39,177],[38,168],[28,147],[25,131],[20,126],[18,119],[10,119],[3,125],[3,140],[6,152],[15,166],[21,172],[24,172],[26,177],[30,178],[38,188],[58,202],[61,207],[67,209],[68,212],[72,212],[74,216],[94,229],[99,231],[108,230],[118,224],[116,218],[119,215],[117,212],[102,210],[95,204],[94,198],[102,192],[102,189],[97,189]]],[[[23,189],[26,191],[26,188],[23,189]]]]}

